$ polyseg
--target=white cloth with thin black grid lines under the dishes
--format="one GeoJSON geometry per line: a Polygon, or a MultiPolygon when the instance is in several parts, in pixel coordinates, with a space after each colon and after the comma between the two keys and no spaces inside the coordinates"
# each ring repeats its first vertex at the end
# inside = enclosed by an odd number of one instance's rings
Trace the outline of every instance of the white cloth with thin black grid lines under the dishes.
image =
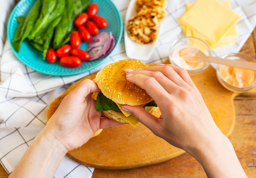
{"type": "MultiPolygon", "coordinates": [[[[124,21],[129,0],[112,0],[124,21]]],[[[168,59],[171,43],[182,36],[177,18],[185,11],[185,4],[194,0],[169,0],[168,15],[162,21],[157,45],[146,63],[160,63],[168,59]]],[[[237,23],[239,37],[236,43],[213,51],[215,56],[238,52],[256,24],[256,0],[230,0],[232,9],[241,18],[237,23]]],[[[109,59],[90,72],[70,77],[48,76],[24,66],[13,55],[6,40],[6,27],[15,0],[0,0],[0,163],[11,173],[25,150],[46,124],[47,106],[61,95],[72,82],[97,72],[106,64],[127,59],[124,38],[109,59]]],[[[124,28],[125,29],[125,28],[124,28]]],[[[55,178],[90,178],[94,168],[80,165],[67,156],[61,162],[55,178]]]]}

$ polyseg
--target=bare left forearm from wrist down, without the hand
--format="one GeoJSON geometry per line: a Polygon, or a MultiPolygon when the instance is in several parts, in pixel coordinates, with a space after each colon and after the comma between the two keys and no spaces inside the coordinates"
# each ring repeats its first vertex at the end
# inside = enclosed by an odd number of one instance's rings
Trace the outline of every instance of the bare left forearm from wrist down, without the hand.
{"type": "Polygon", "coordinates": [[[40,132],[13,169],[9,178],[54,177],[58,165],[66,153],[65,147],[56,139],[49,140],[43,132],[40,132]]]}

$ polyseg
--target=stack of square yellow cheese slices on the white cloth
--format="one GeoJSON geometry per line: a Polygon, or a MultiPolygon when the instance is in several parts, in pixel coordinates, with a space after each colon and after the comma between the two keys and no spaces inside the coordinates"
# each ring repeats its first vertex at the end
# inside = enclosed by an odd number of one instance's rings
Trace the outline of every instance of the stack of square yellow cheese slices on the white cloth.
{"type": "Polygon", "coordinates": [[[186,13],[178,20],[186,36],[198,37],[213,49],[235,42],[239,19],[229,1],[197,0],[186,4],[186,13]]]}

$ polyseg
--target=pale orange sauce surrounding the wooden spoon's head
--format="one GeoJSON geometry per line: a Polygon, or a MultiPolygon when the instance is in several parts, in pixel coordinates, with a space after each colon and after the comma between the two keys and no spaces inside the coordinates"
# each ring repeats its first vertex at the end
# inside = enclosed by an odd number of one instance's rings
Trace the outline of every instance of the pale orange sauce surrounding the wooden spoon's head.
{"type": "Polygon", "coordinates": [[[177,66],[186,70],[198,70],[204,66],[204,62],[196,62],[198,49],[191,46],[176,49],[172,57],[177,66]]]}

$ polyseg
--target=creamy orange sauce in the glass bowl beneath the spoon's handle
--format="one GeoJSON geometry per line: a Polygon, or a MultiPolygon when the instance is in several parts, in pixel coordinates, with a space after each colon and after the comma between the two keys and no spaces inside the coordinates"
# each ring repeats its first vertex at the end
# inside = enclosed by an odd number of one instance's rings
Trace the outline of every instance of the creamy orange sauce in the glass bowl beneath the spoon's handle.
{"type": "Polygon", "coordinates": [[[237,88],[247,88],[254,84],[255,72],[253,70],[222,65],[219,73],[227,84],[237,88]]]}

